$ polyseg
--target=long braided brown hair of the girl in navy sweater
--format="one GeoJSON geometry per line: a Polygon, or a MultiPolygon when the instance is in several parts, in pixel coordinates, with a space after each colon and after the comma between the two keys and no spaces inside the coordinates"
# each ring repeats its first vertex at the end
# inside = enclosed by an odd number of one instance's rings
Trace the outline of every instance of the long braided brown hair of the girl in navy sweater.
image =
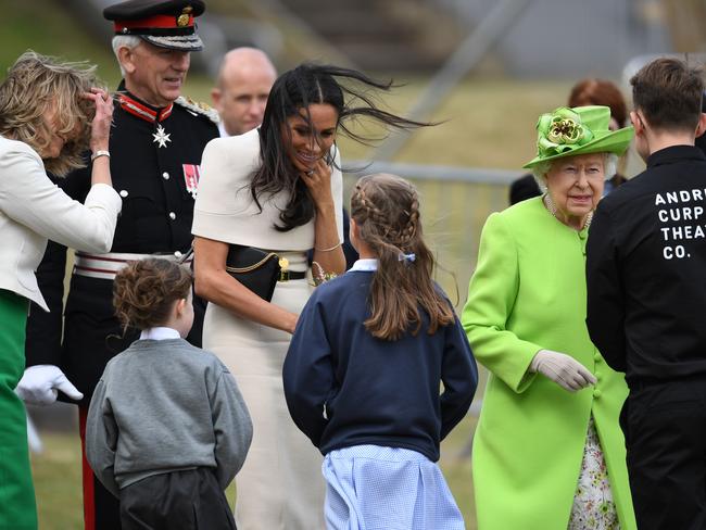
{"type": "Polygon", "coordinates": [[[398,340],[406,331],[416,336],[423,321],[419,307],[429,317],[429,335],[453,323],[451,304],[431,277],[434,260],[423,239],[415,187],[395,175],[362,177],[351,198],[351,217],[379,262],[366,329],[384,340],[398,340]]]}

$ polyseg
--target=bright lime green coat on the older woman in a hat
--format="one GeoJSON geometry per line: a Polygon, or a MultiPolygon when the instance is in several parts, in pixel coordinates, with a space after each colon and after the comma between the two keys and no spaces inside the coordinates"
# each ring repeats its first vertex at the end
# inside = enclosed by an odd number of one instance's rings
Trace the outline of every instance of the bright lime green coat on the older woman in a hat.
{"type": "Polygon", "coordinates": [[[541,199],[492,214],[463,325],[490,371],[472,453],[479,530],[566,530],[589,419],[606,460],[621,529],[635,529],[618,416],[628,394],[585,328],[585,239],[541,199]],[[539,350],[573,356],[598,382],[570,393],[528,374],[539,350]]]}

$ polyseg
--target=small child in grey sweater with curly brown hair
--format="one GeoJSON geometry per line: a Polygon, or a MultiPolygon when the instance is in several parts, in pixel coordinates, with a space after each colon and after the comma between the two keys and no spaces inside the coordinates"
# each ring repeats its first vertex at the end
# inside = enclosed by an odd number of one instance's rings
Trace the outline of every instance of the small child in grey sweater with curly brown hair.
{"type": "Polygon", "coordinates": [[[115,276],[116,315],[141,335],[96,388],[86,456],[119,499],[123,530],[236,528],[224,490],[245,459],[252,424],[225,365],[184,339],[191,283],[187,268],[159,258],[115,276]]]}

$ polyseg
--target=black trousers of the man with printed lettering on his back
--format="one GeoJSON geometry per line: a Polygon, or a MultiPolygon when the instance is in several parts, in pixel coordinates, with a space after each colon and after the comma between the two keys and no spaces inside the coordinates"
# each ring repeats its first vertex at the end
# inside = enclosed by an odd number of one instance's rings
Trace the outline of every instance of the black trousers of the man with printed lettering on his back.
{"type": "Polygon", "coordinates": [[[640,530],[706,530],[706,377],[631,384],[620,424],[640,530]]]}

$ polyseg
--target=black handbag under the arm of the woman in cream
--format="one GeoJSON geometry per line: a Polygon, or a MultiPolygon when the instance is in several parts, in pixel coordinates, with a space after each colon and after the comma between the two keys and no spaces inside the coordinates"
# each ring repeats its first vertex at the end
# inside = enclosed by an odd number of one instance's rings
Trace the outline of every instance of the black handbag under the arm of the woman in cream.
{"type": "Polygon", "coordinates": [[[267,302],[272,301],[277,280],[281,277],[277,254],[242,244],[231,244],[228,249],[226,270],[267,302]]]}

